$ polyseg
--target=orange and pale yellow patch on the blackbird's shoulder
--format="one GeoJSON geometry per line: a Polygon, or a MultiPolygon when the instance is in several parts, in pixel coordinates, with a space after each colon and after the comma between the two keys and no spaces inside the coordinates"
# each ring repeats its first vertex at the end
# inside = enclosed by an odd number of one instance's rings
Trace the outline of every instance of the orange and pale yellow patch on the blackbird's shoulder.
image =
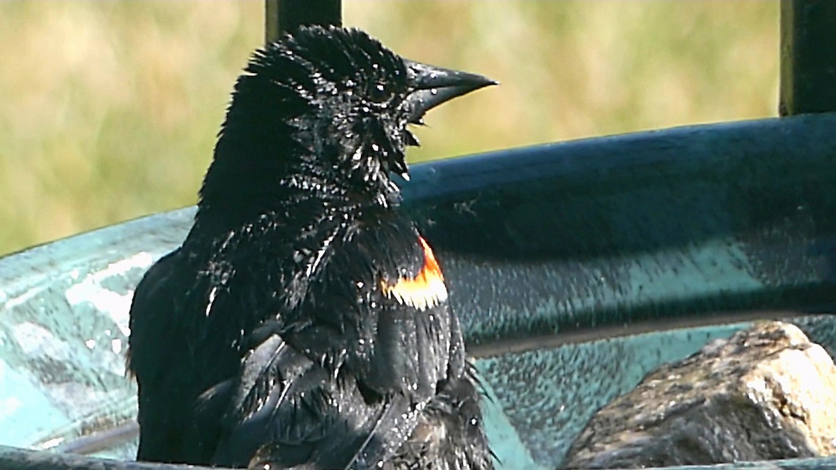
{"type": "Polygon", "coordinates": [[[380,288],[390,299],[395,298],[401,304],[426,310],[447,299],[447,288],[430,245],[422,237],[418,237],[418,242],[424,248],[424,267],[418,275],[411,279],[400,278],[395,285],[380,281],[380,288]]]}

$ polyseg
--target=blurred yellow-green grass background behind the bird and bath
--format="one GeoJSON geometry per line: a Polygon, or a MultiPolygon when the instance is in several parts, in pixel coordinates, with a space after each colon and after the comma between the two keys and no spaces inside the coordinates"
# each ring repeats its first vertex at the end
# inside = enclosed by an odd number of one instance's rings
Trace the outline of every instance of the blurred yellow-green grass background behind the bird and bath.
{"type": "MultiPolygon", "coordinates": [[[[777,0],[344,0],[410,59],[502,82],[434,110],[410,161],[771,116],[777,0]]],[[[183,207],[257,0],[0,2],[0,253],[183,207]]]]}

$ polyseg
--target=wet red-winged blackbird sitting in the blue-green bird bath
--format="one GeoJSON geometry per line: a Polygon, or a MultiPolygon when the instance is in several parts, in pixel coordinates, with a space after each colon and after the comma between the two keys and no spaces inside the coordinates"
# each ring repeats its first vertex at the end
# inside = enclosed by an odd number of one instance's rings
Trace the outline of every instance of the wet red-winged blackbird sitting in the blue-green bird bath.
{"type": "Polygon", "coordinates": [[[492,468],[441,269],[390,179],[408,124],[488,84],[358,30],[252,55],[194,226],[131,306],[138,459],[492,468]]]}

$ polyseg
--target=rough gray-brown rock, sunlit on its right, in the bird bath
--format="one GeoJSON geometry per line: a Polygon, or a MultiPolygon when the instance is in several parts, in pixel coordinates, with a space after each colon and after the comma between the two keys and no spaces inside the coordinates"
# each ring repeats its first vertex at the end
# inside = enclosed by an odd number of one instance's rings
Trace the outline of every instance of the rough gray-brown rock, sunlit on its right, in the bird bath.
{"type": "Polygon", "coordinates": [[[705,465],[836,454],[836,366],[793,324],[764,322],[647,375],[604,406],[565,468],[705,465]]]}

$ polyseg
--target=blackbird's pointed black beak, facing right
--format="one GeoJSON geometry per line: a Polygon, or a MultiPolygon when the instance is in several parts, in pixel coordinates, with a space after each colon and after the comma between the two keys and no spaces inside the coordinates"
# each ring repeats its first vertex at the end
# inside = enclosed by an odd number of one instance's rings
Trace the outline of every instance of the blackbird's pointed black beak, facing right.
{"type": "Polygon", "coordinates": [[[424,114],[456,96],[465,95],[473,90],[497,84],[482,75],[468,74],[460,70],[442,69],[434,65],[421,64],[404,60],[410,82],[415,88],[407,100],[410,102],[412,124],[421,124],[424,114]]]}

